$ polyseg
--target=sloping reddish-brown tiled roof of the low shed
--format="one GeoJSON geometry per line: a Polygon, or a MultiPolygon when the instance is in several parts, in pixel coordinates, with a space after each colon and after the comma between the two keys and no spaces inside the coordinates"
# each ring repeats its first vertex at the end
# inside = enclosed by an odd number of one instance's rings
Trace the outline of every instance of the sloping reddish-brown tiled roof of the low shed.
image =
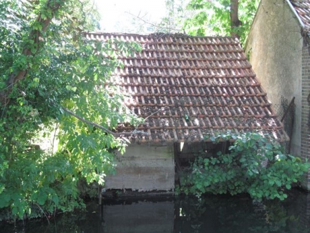
{"type": "MultiPolygon", "coordinates": [[[[134,140],[202,141],[216,132],[269,133],[286,139],[237,39],[185,34],[88,33],[88,39],[141,43],[134,57],[121,57],[118,85],[132,94],[127,105],[145,123],[134,140]]],[[[130,132],[122,127],[118,132],[130,132]]]]}

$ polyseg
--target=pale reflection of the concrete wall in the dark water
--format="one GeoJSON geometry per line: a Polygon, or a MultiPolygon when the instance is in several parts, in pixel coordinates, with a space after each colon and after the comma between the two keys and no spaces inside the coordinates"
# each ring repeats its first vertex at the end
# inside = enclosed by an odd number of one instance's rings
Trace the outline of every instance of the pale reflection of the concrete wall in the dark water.
{"type": "Polygon", "coordinates": [[[103,206],[103,232],[174,232],[173,199],[145,199],[103,206]]]}

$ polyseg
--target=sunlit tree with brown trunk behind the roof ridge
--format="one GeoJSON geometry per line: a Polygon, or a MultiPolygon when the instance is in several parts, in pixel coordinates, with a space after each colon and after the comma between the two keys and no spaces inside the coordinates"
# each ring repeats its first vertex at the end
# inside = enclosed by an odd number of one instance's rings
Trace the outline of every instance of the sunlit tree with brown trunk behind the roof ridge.
{"type": "MultiPolygon", "coordinates": [[[[185,3],[182,0],[178,2],[185,3]]],[[[240,38],[240,41],[245,43],[258,3],[259,0],[190,0],[187,2],[187,8],[178,12],[186,12],[181,24],[187,34],[230,35],[240,38]]],[[[167,0],[166,4],[169,7],[174,6],[176,0],[167,0]]],[[[170,14],[174,12],[175,10],[170,10],[170,14]]],[[[167,19],[163,22],[165,21],[167,19]]]]}

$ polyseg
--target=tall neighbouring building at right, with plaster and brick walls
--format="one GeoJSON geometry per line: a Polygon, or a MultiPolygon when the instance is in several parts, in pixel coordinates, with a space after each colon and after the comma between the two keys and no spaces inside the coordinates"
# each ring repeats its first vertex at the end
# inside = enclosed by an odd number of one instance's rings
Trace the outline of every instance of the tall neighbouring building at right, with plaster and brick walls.
{"type": "MultiPolygon", "coordinates": [[[[310,159],[309,0],[262,0],[247,39],[246,53],[273,104],[295,97],[291,153],[310,159]]],[[[310,189],[310,172],[304,188],[310,189]]]]}

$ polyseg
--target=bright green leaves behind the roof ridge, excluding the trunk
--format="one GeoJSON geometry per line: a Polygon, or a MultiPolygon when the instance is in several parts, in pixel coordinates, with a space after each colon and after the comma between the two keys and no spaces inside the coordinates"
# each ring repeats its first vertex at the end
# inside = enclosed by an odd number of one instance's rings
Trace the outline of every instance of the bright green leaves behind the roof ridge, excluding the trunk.
{"type": "Polygon", "coordinates": [[[177,4],[184,6],[183,0],[167,0],[169,17],[165,17],[162,24],[170,26],[170,22],[173,21],[173,28],[182,27],[182,31],[185,30],[187,34],[194,36],[229,36],[231,32],[235,32],[244,44],[258,3],[259,0],[239,0],[238,17],[241,25],[231,29],[229,0],[191,0],[186,8],[172,7],[177,4]]]}

